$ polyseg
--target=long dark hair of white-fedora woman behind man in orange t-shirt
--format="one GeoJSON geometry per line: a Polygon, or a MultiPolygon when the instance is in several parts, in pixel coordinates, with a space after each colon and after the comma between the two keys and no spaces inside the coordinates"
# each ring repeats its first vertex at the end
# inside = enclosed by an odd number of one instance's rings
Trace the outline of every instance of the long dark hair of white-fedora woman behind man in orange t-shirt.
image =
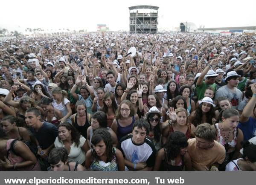
{"type": "MultiPolygon", "coordinates": [[[[195,121],[193,123],[195,127],[201,124],[203,120],[202,104],[203,103],[201,103],[199,107],[195,110],[195,121]]],[[[206,122],[212,125],[212,118],[214,117],[215,117],[215,110],[211,104],[211,108],[209,112],[206,113],[206,122]]]]}

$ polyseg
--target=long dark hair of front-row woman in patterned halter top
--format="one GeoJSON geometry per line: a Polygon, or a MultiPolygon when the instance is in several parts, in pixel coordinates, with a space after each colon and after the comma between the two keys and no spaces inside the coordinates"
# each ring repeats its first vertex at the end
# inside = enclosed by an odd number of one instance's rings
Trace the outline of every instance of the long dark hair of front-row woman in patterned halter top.
{"type": "MultiPolygon", "coordinates": [[[[92,139],[91,139],[91,143],[93,144],[93,146],[97,145],[97,143],[101,142],[102,140],[106,145],[106,151],[105,151],[106,156],[107,156],[106,162],[111,162],[113,159],[113,146],[112,146],[111,135],[107,129],[95,130],[95,132],[93,133],[92,139]]],[[[99,156],[97,155],[96,151],[94,150],[94,147],[92,149],[92,157],[96,161],[100,160],[99,156]]]]}

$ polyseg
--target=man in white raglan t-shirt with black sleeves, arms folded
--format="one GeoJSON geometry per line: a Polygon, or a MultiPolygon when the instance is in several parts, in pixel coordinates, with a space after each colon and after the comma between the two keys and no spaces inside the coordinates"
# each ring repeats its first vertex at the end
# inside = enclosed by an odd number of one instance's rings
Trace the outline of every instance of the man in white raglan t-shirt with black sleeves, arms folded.
{"type": "Polygon", "coordinates": [[[118,149],[125,156],[126,170],[151,171],[156,156],[154,143],[146,136],[149,132],[149,124],[145,119],[134,122],[132,135],[125,136],[119,141],[118,149]]]}

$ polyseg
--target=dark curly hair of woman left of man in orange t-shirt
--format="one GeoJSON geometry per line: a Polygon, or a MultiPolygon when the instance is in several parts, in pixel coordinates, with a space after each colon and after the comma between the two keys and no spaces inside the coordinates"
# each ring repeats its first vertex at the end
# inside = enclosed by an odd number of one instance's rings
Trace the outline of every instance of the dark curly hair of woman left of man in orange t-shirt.
{"type": "Polygon", "coordinates": [[[175,159],[180,154],[180,149],[188,146],[188,139],[184,133],[175,131],[170,133],[166,144],[163,146],[166,149],[167,161],[175,159]]]}

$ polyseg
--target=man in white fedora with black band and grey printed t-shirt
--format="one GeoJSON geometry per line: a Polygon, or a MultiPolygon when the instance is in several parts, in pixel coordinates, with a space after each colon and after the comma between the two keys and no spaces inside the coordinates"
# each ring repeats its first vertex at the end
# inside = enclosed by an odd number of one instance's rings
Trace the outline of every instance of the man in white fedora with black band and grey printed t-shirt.
{"type": "Polygon", "coordinates": [[[225,78],[225,82],[227,85],[219,88],[215,94],[215,99],[224,96],[231,102],[232,108],[237,109],[239,103],[242,101],[243,93],[241,90],[236,88],[238,86],[238,78],[240,75],[236,73],[236,71],[230,71],[227,73],[225,78]]]}

